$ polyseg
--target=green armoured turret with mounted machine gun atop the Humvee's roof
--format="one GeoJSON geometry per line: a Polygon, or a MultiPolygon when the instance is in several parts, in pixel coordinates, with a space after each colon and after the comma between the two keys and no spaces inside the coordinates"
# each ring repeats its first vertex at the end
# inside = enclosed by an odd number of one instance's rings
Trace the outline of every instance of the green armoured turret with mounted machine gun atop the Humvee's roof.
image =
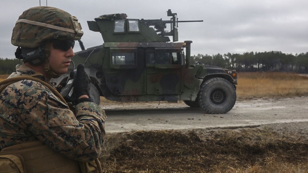
{"type": "Polygon", "coordinates": [[[167,16],[172,16],[170,20],[127,19],[126,14],[122,14],[101,15],[95,18],[95,21],[87,21],[89,29],[100,32],[104,42],[170,42],[168,36],[172,36],[173,42],[176,42],[179,22],[203,22],[203,20],[179,21],[177,14],[172,13],[170,9],[167,11],[167,16]],[[169,32],[165,31],[167,23],[171,24],[169,32]],[[154,26],[156,30],[150,26],[154,26]]]}

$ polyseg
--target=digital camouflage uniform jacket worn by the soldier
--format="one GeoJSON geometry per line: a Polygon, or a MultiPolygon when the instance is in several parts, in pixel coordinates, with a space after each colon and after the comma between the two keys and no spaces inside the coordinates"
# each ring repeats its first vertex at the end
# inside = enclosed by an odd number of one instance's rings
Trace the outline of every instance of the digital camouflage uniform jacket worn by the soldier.
{"type": "MultiPolygon", "coordinates": [[[[9,78],[34,73],[17,65],[9,78]]],[[[34,77],[48,82],[43,76],[34,77]]],[[[77,104],[75,112],[39,82],[15,82],[0,95],[0,149],[40,140],[71,159],[94,160],[105,141],[106,114],[91,102],[77,104]]]]}

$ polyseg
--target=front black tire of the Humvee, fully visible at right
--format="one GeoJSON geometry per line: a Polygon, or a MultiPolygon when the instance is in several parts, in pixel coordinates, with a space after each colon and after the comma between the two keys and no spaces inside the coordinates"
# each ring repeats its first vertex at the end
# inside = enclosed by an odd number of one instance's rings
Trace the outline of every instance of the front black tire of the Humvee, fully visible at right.
{"type": "Polygon", "coordinates": [[[236,101],[236,91],[231,82],[224,78],[211,78],[202,83],[199,104],[208,114],[225,114],[236,101]]]}

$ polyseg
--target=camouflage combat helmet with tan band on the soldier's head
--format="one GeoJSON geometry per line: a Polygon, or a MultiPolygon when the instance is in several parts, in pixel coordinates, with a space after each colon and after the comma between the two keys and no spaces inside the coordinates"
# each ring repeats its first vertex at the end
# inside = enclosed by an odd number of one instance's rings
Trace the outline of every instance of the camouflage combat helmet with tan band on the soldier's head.
{"type": "Polygon", "coordinates": [[[37,6],[25,10],[13,28],[11,43],[24,48],[36,48],[45,40],[80,40],[81,25],[75,16],[64,10],[37,6]]]}

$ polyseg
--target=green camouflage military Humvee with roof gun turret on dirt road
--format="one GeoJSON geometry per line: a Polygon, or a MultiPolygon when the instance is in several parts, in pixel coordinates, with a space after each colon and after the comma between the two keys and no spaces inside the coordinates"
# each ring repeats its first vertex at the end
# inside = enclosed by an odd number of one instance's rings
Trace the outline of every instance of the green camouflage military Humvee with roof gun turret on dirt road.
{"type": "MultiPolygon", "coordinates": [[[[86,50],[81,44],[82,50],[72,58],[75,64],[83,64],[91,54],[85,70],[91,78],[90,94],[95,103],[99,104],[103,96],[118,102],[183,100],[209,114],[223,114],[233,108],[236,71],[192,63],[192,41],[177,42],[179,22],[200,21],[178,21],[171,10],[167,11],[170,20],[126,16],[109,14],[88,21],[89,29],[100,32],[104,43],[86,50]],[[170,32],[165,31],[167,23],[170,32]]],[[[65,86],[69,72],[52,80],[58,90],[65,86]]]]}

